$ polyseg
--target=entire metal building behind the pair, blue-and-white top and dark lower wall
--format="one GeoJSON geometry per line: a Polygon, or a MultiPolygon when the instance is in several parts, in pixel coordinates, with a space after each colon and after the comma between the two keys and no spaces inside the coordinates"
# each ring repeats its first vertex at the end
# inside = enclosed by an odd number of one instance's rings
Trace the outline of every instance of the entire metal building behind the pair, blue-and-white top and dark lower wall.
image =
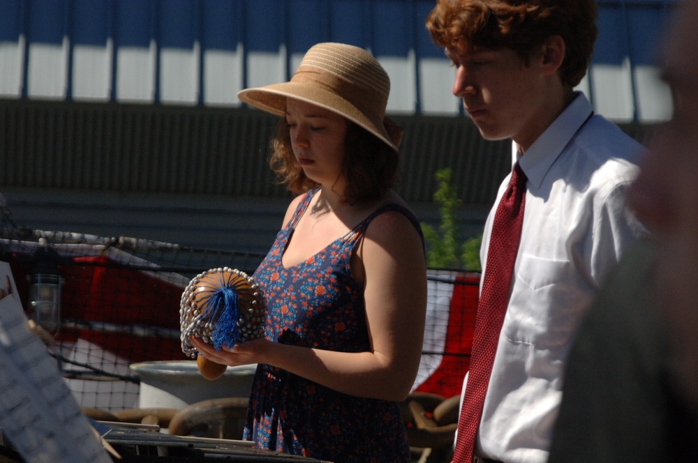
{"type": "MultiPolygon", "coordinates": [[[[676,0],[597,3],[579,90],[642,138],[671,112],[655,47],[676,0]]],[[[432,6],[0,0],[0,192],[29,226],[263,251],[288,195],[265,162],[274,121],[235,94],[288,79],[308,47],[335,40],[371,50],[392,79],[389,111],[406,128],[399,190],[417,217],[438,219],[433,174],[452,167],[466,234],[476,233],[509,147],[459,117],[453,70],[424,29],[432,6]]]]}

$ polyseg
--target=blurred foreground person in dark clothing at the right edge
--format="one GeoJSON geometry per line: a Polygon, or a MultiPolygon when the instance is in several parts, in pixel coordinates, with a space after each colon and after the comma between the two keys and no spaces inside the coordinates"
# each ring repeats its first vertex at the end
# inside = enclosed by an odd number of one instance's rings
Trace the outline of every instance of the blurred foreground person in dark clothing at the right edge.
{"type": "Polygon", "coordinates": [[[674,116],[629,193],[655,239],[623,257],[579,328],[550,463],[698,455],[698,2],[677,8],[662,54],[674,116]]]}

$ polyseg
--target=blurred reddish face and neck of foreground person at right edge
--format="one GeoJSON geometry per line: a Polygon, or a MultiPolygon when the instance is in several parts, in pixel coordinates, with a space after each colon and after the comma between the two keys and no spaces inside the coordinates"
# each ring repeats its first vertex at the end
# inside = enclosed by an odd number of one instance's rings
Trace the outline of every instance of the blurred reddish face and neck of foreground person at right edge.
{"type": "Polygon", "coordinates": [[[658,238],[661,309],[679,342],[683,384],[698,401],[698,2],[682,8],[664,62],[674,115],[655,135],[630,203],[658,238]]]}

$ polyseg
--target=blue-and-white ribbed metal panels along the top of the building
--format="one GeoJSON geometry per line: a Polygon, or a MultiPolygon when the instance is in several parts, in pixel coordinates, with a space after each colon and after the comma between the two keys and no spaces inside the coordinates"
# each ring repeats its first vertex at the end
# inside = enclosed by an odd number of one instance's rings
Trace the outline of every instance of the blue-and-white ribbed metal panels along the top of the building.
{"type": "MultiPolygon", "coordinates": [[[[656,47],[676,0],[598,0],[599,38],[579,85],[598,113],[671,112],[656,47]]],[[[392,78],[389,109],[459,114],[452,68],[424,20],[433,0],[0,0],[0,96],[239,105],[280,82],[314,43],[371,50],[392,78]]]]}

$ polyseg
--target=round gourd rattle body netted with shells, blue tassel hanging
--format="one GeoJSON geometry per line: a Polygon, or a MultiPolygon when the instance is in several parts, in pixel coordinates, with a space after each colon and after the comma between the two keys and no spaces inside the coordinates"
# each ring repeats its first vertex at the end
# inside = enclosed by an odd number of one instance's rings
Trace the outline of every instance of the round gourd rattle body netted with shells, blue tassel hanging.
{"type": "Polygon", "coordinates": [[[189,337],[200,337],[220,350],[264,335],[264,295],[254,279],[234,268],[211,268],[192,278],[181,294],[181,350],[191,358],[189,337]]]}

